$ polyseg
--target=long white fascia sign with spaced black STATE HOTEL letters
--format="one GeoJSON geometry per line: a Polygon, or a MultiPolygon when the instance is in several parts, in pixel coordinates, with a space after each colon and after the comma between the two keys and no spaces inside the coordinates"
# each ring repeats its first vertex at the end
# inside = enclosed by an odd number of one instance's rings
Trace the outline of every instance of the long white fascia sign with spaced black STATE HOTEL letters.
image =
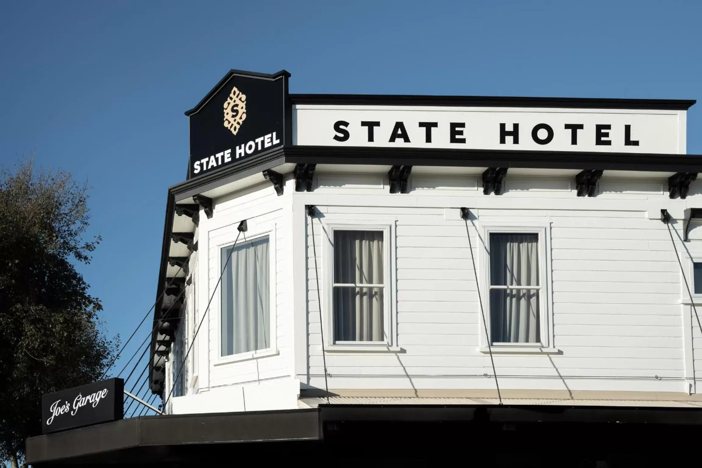
{"type": "Polygon", "coordinates": [[[685,111],[296,105],[296,145],[684,154],[685,111]]]}

